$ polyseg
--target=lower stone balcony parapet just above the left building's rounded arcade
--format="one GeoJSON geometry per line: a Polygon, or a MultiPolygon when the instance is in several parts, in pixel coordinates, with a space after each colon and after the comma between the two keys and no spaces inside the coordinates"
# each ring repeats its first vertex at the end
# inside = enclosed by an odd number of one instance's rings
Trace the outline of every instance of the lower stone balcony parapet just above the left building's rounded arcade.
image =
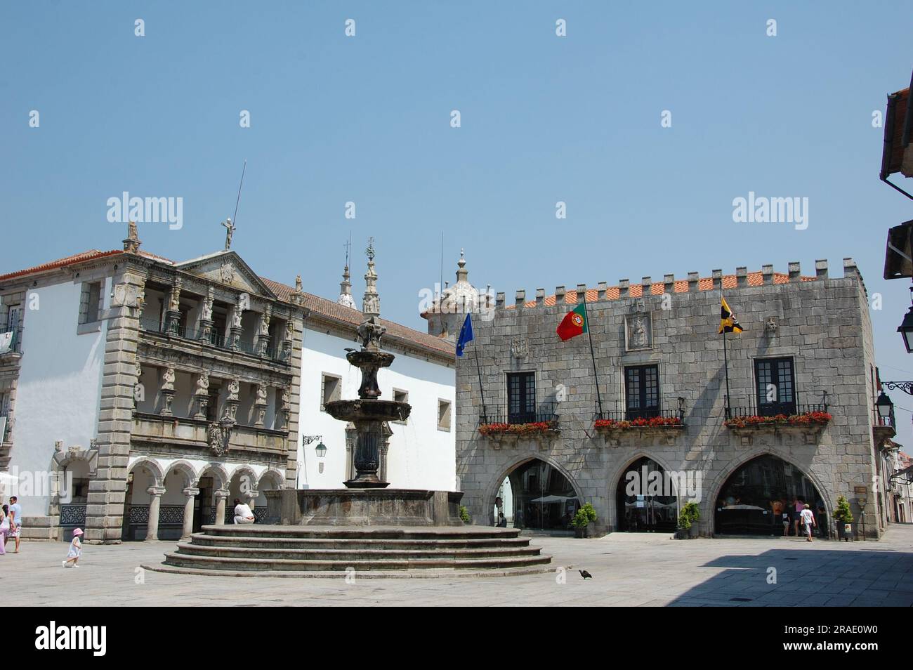
{"type": "MultiPolygon", "coordinates": [[[[179,418],[161,414],[133,413],[131,438],[135,441],[209,449],[209,425],[205,419],[179,418]]],[[[289,433],[270,428],[235,424],[228,442],[229,455],[256,451],[286,455],[289,433]]]]}

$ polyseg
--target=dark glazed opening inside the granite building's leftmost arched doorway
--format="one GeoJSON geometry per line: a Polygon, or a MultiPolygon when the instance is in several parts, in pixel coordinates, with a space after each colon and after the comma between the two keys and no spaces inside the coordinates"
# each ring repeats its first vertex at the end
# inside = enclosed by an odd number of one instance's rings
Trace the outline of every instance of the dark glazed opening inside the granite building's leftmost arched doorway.
{"type": "Polygon", "coordinates": [[[572,529],[571,519],[581,505],[580,499],[571,481],[555,466],[539,458],[521,463],[501,481],[498,491],[505,489],[510,496],[498,496],[502,500],[501,511],[506,518],[512,518],[514,528],[572,529]]]}

